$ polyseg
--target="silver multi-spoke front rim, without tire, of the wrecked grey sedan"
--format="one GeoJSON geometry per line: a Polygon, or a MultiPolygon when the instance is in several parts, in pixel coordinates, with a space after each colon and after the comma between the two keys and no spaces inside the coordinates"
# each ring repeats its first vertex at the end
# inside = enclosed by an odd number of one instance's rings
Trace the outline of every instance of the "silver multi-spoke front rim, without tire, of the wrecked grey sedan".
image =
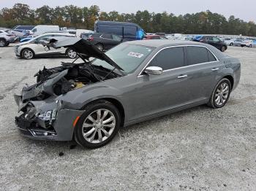
{"type": "Polygon", "coordinates": [[[92,144],[101,143],[111,136],[115,127],[115,115],[108,109],[97,109],[83,122],[83,138],[92,144]]]}

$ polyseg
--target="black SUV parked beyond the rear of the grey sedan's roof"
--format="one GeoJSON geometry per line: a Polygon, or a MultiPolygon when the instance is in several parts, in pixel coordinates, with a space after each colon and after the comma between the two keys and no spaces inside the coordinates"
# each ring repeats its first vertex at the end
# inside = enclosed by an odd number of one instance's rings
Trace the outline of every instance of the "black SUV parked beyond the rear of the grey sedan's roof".
{"type": "Polygon", "coordinates": [[[219,38],[215,36],[201,36],[197,39],[194,39],[194,41],[211,44],[222,52],[225,52],[225,50],[227,50],[227,44],[225,44],[225,42],[222,42],[219,38]]]}

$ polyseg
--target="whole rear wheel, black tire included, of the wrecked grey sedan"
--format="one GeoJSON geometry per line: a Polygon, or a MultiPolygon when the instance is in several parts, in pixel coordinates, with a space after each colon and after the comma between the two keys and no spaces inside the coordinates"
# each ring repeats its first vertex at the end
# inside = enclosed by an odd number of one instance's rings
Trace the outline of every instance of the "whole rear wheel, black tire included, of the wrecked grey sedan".
{"type": "Polygon", "coordinates": [[[222,108],[225,106],[225,104],[227,104],[227,101],[230,98],[231,90],[232,86],[230,80],[226,78],[221,79],[214,88],[213,93],[211,93],[211,98],[207,105],[214,109],[222,108]],[[226,88],[228,89],[226,90],[226,88]]]}

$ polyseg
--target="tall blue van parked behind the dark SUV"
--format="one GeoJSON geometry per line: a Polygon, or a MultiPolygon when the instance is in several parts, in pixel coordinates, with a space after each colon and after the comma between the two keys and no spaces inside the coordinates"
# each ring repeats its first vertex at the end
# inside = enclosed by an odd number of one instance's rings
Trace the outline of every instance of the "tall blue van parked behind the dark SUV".
{"type": "Polygon", "coordinates": [[[101,21],[94,24],[94,33],[116,34],[127,41],[140,40],[146,33],[135,23],[101,21]]]}

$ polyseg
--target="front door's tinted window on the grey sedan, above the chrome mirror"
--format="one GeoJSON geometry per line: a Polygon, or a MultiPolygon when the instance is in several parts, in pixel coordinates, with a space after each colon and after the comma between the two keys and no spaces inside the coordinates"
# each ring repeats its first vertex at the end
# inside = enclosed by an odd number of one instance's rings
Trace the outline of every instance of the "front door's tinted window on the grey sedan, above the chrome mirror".
{"type": "Polygon", "coordinates": [[[170,47],[162,50],[148,66],[159,66],[162,70],[175,69],[184,66],[183,47],[170,47]]]}

